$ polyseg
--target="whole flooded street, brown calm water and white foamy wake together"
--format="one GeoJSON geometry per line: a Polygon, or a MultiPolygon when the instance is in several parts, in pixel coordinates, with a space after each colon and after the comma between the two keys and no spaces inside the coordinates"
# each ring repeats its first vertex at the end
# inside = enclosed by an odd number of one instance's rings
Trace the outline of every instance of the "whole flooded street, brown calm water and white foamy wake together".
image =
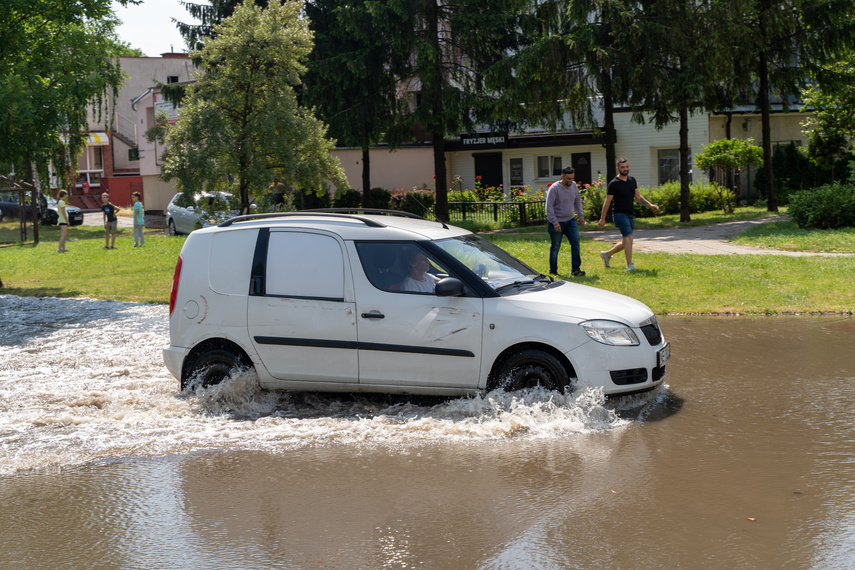
{"type": "Polygon", "coordinates": [[[0,568],[850,568],[855,318],[665,317],[629,399],[179,393],[166,308],[0,296],[0,568]]]}

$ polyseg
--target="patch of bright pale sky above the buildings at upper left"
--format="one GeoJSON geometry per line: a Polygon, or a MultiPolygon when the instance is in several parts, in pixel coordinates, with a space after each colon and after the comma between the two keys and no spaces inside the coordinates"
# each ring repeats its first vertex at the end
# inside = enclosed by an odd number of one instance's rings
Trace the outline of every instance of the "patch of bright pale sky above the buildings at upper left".
{"type": "Polygon", "coordinates": [[[143,0],[142,4],[129,5],[127,8],[113,2],[113,11],[122,21],[117,30],[119,39],[142,50],[145,55],[157,57],[169,51],[186,51],[184,39],[172,18],[181,22],[191,22],[193,19],[178,0],[143,0]]]}

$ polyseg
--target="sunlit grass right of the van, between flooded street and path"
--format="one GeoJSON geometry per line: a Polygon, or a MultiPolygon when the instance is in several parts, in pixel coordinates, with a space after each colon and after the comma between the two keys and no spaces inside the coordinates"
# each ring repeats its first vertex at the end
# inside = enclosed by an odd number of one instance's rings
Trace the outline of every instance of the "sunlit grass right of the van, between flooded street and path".
{"type": "MultiPolygon", "coordinates": [[[[533,268],[549,269],[545,232],[493,234],[489,238],[533,268]]],[[[623,268],[618,254],[605,269],[603,244],[582,238],[587,275],[570,277],[570,247],[561,247],[558,266],[569,281],[607,289],[646,303],[657,314],[783,314],[855,312],[855,256],[671,255],[639,253],[636,271],[623,268]]]]}

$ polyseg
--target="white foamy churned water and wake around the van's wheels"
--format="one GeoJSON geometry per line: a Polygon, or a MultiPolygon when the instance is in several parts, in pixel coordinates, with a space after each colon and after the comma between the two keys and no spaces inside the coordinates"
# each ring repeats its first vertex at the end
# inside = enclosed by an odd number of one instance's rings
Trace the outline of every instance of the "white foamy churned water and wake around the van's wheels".
{"type": "Polygon", "coordinates": [[[628,423],[601,391],[457,399],[283,393],[253,371],[181,392],[167,308],[0,296],[0,474],[204,449],[556,438],[628,423]]]}

